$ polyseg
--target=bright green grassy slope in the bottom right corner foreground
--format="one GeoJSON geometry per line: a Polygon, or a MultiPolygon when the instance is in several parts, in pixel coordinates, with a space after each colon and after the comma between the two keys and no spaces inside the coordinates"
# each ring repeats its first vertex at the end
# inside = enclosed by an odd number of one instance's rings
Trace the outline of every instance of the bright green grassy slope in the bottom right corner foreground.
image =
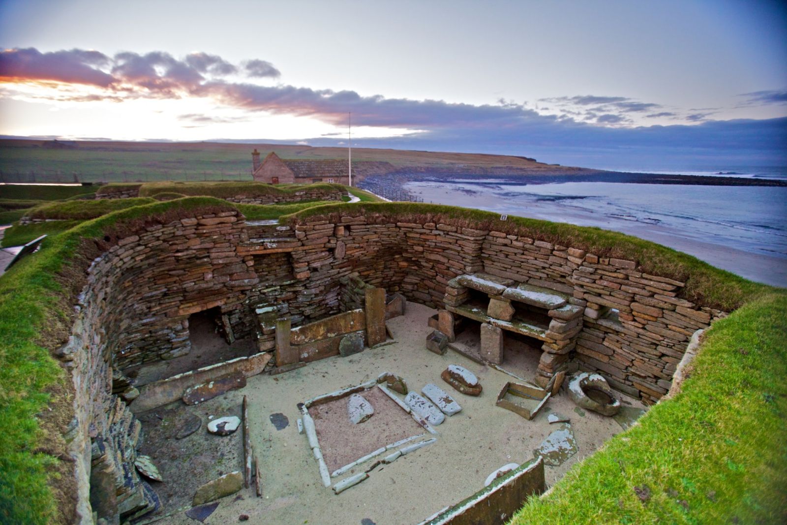
{"type": "Polygon", "coordinates": [[[787,523],[785,338],[783,290],[714,324],[678,396],[511,523],[787,523]]]}

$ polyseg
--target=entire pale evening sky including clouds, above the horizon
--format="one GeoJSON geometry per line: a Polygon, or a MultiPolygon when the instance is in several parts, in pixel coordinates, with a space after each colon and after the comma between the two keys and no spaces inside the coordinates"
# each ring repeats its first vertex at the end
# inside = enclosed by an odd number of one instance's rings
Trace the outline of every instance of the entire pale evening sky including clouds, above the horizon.
{"type": "Polygon", "coordinates": [[[0,0],[0,135],[787,165],[783,2],[0,0]]]}

